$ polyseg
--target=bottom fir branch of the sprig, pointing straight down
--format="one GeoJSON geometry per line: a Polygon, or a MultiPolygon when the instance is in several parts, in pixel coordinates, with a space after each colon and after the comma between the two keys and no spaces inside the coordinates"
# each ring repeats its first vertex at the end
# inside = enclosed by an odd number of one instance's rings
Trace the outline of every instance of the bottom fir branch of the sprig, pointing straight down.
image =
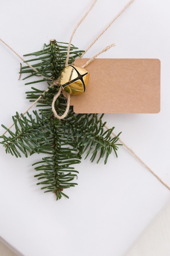
{"type": "MultiPolygon", "coordinates": [[[[41,152],[49,153],[52,156],[42,158],[41,162],[35,163],[35,171],[43,171],[35,175],[38,177],[38,185],[43,185],[41,189],[45,192],[53,192],[57,200],[65,195],[63,189],[70,188],[77,185],[73,182],[77,178],[78,171],[75,171],[72,164],[80,163],[80,156],[73,149],[66,147],[66,139],[62,139],[61,130],[53,124],[53,135],[50,136],[51,148],[46,148],[46,144],[42,145],[41,152]],[[44,186],[45,185],[45,186],[44,186]]],[[[34,164],[34,165],[35,165],[34,164]]]]}

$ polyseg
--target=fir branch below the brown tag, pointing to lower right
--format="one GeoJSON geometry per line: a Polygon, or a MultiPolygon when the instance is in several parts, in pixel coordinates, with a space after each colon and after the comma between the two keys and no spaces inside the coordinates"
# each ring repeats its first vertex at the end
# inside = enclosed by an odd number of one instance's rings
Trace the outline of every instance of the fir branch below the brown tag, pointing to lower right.
{"type": "Polygon", "coordinates": [[[116,144],[116,142],[119,140],[120,133],[112,137],[111,133],[114,127],[105,131],[105,123],[102,124],[102,117],[103,115],[98,119],[96,114],[78,114],[74,116],[74,119],[71,117],[66,125],[72,127],[68,139],[70,137],[75,138],[75,148],[78,148],[79,153],[82,155],[87,151],[85,159],[91,153],[91,162],[99,155],[97,163],[105,157],[104,163],[106,164],[112,150],[114,150],[117,157],[117,149],[120,144],[116,144]]]}

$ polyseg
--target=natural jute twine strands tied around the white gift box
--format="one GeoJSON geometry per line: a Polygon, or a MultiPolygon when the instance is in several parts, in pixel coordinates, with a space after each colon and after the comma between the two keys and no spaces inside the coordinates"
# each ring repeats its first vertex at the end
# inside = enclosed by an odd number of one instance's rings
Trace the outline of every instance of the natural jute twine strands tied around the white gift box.
{"type": "MultiPolygon", "coordinates": [[[[106,31],[106,29],[108,29],[108,27],[110,27],[110,25],[121,15],[121,13],[133,2],[134,0],[131,0],[130,2],[128,2],[128,4],[126,4],[126,6],[124,7],[124,9],[122,9],[120,12],[119,12],[119,14],[109,23],[109,25],[102,31],[102,33],[100,33],[99,34],[99,36],[97,36],[97,38],[95,38],[95,40],[93,41],[93,43],[91,43],[91,45],[89,45],[89,47],[86,49],[86,51],[85,51],[85,53],[88,51],[88,49],[90,49],[90,47],[97,41],[97,39],[104,33],[104,31],[106,31]]],[[[77,29],[77,27],[81,24],[81,22],[84,20],[84,18],[87,16],[87,14],[89,13],[89,11],[93,8],[93,6],[94,6],[94,4],[97,2],[97,0],[95,0],[94,2],[93,2],[93,4],[91,5],[91,7],[90,7],[90,9],[86,12],[86,14],[83,16],[83,18],[79,21],[79,23],[77,24],[77,26],[75,27],[75,29],[74,29],[74,33],[75,33],[75,31],[76,31],[76,29],[77,29]]],[[[73,35],[74,35],[74,33],[72,33],[72,38],[73,38],[73,35]]],[[[71,39],[72,39],[71,38],[71,39]]],[[[2,42],[2,43],[4,43],[9,49],[11,49],[11,51],[12,52],[14,52],[22,61],[24,61],[24,59],[17,53],[17,52],[15,52],[7,43],[5,43],[1,38],[0,38],[0,41],[2,42]]],[[[71,45],[71,40],[70,40],[70,45],[71,45]]],[[[82,67],[86,67],[87,65],[89,65],[93,60],[94,60],[94,58],[96,57],[96,56],[98,56],[99,54],[101,54],[102,52],[104,52],[104,51],[107,51],[110,47],[112,47],[112,46],[115,46],[115,44],[112,44],[112,45],[109,45],[109,46],[107,46],[107,47],[105,47],[101,52],[99,52],[98,54],[95,54],[95,56],[93,56],[89,61],[87,61],[82,67]]],[[[69,58],[69,50],[68,50],[68,53],[67,53],[67,61],[68,61],[68,58],[69,58]]],[[[35,68],[33,68],[31,65],[29,65],[29,63],[26,63],[29,67],[31,67],[35,72],[37,72],[37,70],[35,70],[35,68]]],[[[68,64],[68,62],[66,63],[66,65],[68,64]]],[[[49,79],[49,78],[48,78],[49,79]]],[[[52,80],[52,79],[51,79],[52,80]]],[[[49,88],[51,88],[51,87],[53,87],[54,85],[60,85],[60,82],[59,82],[59,79],[57,79],[57,80],[55,80],[55,81],[53,81],[53,84],[49,87],[49,88]]],[[[42,96],[45,94],[45,92],[48,92],[49,91],[49,88],[47,88],[45,91],[44,91],[44,93],[42,94],[42,96]]],[[[53,101],[54,101],[54,103],[55,103],[55,100],[57,99],[57,97],[60,95],[60,93],[62,92],[62,89],[61,89],[61,87],[60,87],[60,89],[59,89],[59,91],[58,91],[58,93],[55,95],[55,97],[54,97],[54,99],[53,99],[53,101]]],[[[69,94],[70,95],[70,94],[69,94]]],[[[31,104],[31,106],[29,106],[29,108],[26,110],[26,111],[24,111],[23,113],[22,113],[22,115],[25,115],[26,114],[26,112],[30,109],[30,108],[32,108],[41,98],[42,98],[42,96],[40,96],[38,99],[36,99],[36,101],[34,101],[32,104],[31,104]]],[[[68,97],[69,98],[69,97],[68,97]]],[[[52,106],[52,108],[54,108],[54,103],[53,103],[53,106],[52,106]]],[[[69,99],[67,99],[67,108],[66,108],[66,113],[67,113],[67,111],[69,110],[69,99]]],[[[60,116],[59,116],[60,117],[60,116]]],[[[62,117],[62,116],[61,116],[62,117]]],[[[21,116],[20,116],[20,118],[21,118],[21,116]]],[[[63,117],[62,117],[63,118],[63,117]]],[[[11,129],[11,127],[13,127],[14,126],[14,123],[13,124],[11,124],[11,126],[8,128],[8,130],[10,130],[11,129]]],[[[109,129],[106,125],[104,126],[107,130],[109,129]]],[[[2,136],[3,135],[5,135],[6,134],[6,132],[8,131],[8,130],[6,130],[3,134],[2,134],[2,136]]],[[[113,136],[116,136],[116,134],[114,133],[114,132],[112,132],[112,134],[113,134],[113,136]]],[[[119,139],[119,142],[122,144],[122,145],[124,145],[124,147],[128,150],[128,151],[130,151],[130,153],[134,156],[134,157],[136,157],[137,159],[138,159],[138,161],[141,163],[141,164],[143,164],[144,165],[144,167],[145,168],[147,168],[148,169],[148,171],[150,171],[158,180],[159,180],[159,182],[161,182],[164,186],[166,186],[166,188],[168,189],[168,190],[170,190],[170,186],[168,186],[168,184],[166,184],[165,182],[163,182],[163,180],[161,180],[161,178],[154,172],[154,171],[152,171],[152,169],[130,148],[130,147],[128,147],[125,143],[124,143],[124,141],[122,141],[121,139],[119,139]]]]}

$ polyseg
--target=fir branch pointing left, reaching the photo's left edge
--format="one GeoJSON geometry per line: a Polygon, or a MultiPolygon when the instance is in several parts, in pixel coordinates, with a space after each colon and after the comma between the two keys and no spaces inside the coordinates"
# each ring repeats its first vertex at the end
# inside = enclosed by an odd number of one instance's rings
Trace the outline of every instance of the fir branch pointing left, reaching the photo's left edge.
{"type": "Polygon", "coordinates": [[[40,117],[37,111],[33,111],[33,113],[36,119],[33,119],[28,112],[27,117],[21,114],[22,118],[20,118],[18,112],[12,117],[15,124],[15,132],[2,125],[10,134],[9,137],[6,135],[0,136],[3,139],[0,143],[5,147],[6,153],[11,153],[16,157],[21,157],[21,153],[23,153],[28,157],[28,152],[39,153],[41,140],[46,141],[48,144],[46,132],[51,132],[47,126],[48,120],[45,120],[43,115],[40,117]]]}

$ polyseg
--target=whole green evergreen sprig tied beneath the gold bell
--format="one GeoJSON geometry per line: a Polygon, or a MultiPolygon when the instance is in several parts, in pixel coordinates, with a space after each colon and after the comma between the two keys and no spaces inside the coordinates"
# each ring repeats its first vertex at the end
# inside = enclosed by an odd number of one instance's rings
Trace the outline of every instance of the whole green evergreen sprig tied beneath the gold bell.
{"type": "MultiPolygon", "coordinates": [[[[7,127],[2,127],[9,132],[9,136],[1,136],[0,142],[6,153],[21,157],[28,157],[34,153],[44,153],[41,161],[33,164],[35,171],[38,172],[35,177],[38,178],[37,184],[45,192],[53,192],[56,199],[62,198],[62,195],[68,198],[63,190],[77,183],[78,171],[73,167],[74,164],[81,162],[82,155],[87,158],[91,155],[91,162],[99,161],[104,158],[106,164],[108,156],[114,152],[117,157],[117,144],[120,133],[113,137],[113,128],[106,130],[106,123],[102,123],[102,117],[97,114],[75,114],[70,107],[68,116],[65,119],[54,119],[51,110],[51,103],[54,95],[58,92],[59,87],[50,85],[60,76],[65,66],[67,55],[67,43],[57,43],[51,40],[49,45],[44,45],[41,51],[26,54],[25,56],[36,56],[26,62],[31,64],[37,71],[28,66],[21,69],[21,74],[26,74],[24,79],[29,77],[41,76],[43,79],[31,81],[27,84],[39,84],[45,82],[49,91],[45,94],[40,88],[31,87],[26,92],[29,101],[35,101],[40,96],[37,111],[29,112],[21,116],[16,113],[13,116],[15,132],[7,127]]],[[[73,45],[71,46],[69,63],[73,63],[77,56],[81,56],[83,51],[79,51],[73,45]]],[[[66,102],[63,95],[58,97],[55,102],[55,109],[61,114],[64,113],[66,102]]]]}

